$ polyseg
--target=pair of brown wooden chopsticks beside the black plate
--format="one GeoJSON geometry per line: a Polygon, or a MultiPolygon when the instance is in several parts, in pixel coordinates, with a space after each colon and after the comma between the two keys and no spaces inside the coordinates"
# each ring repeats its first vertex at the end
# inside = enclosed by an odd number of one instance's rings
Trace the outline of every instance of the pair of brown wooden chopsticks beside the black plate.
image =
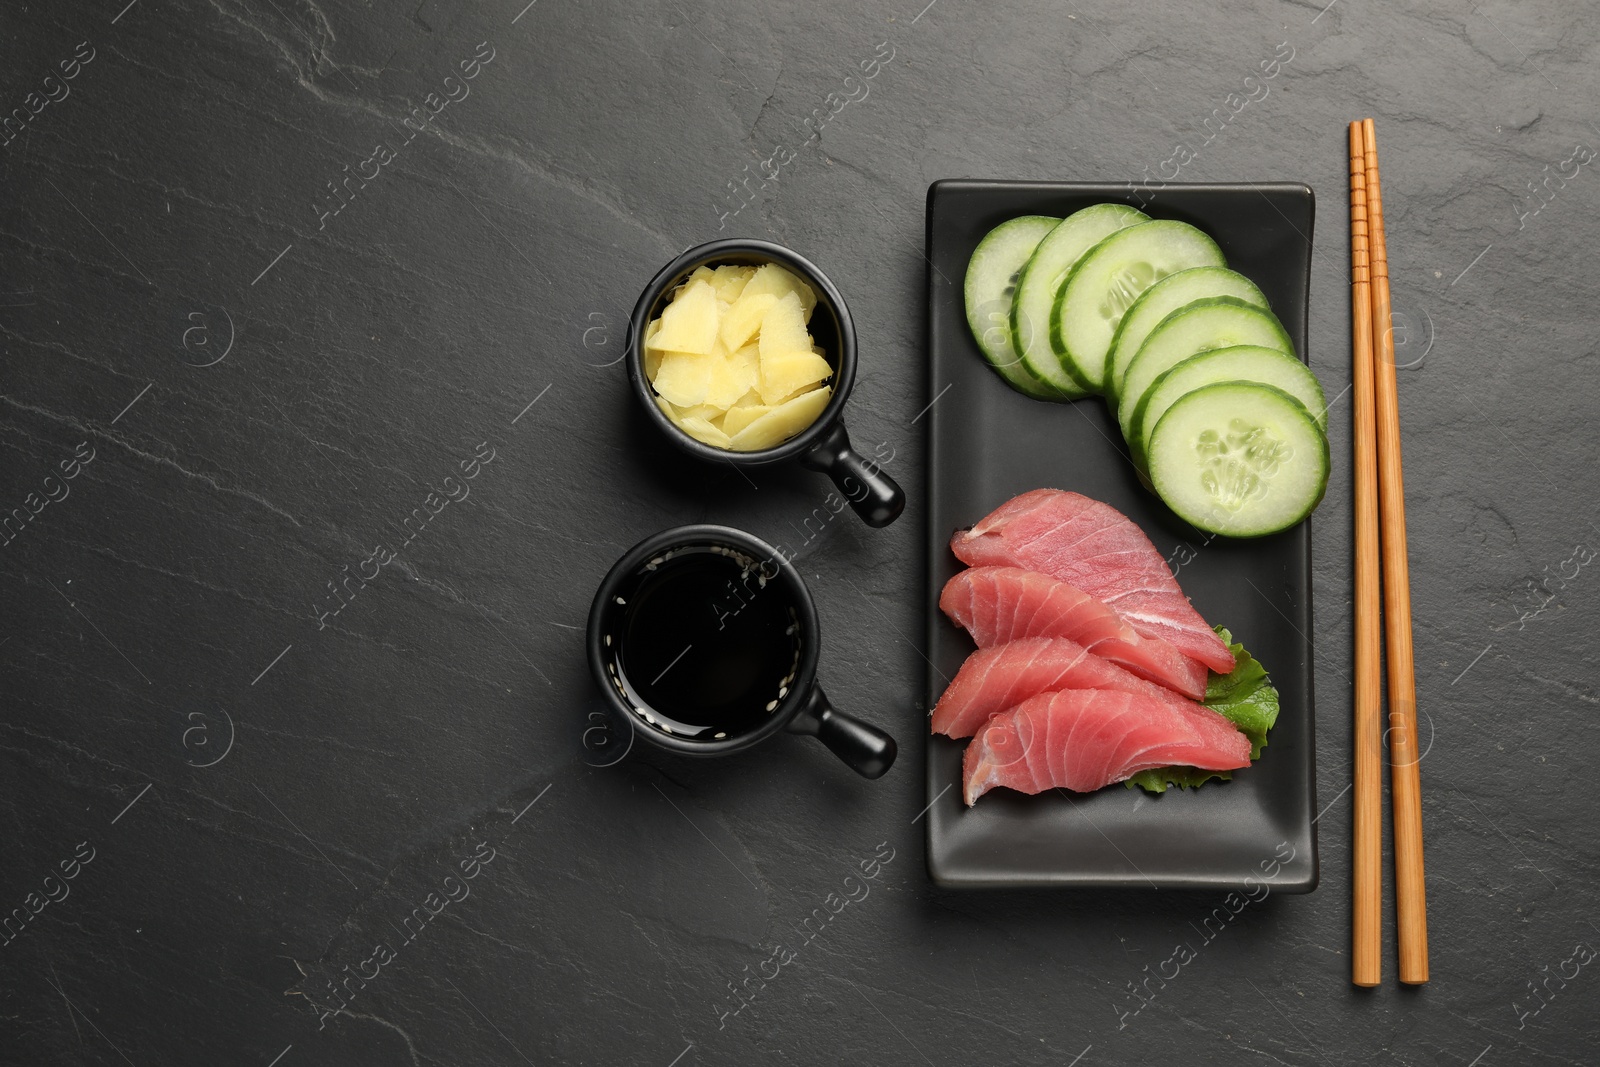
{"type": "Polygon", "coordinates": [[[1416,667],[1389,254],[1371,118],[1350,123],[1350,339],[1355,426],[1355,893],[1350,981],[1378,985],[1382,977],[1382,745],[1387,733],[1400,981],[1416,985],[1427,981],[1422,784],[1416,753],[1416,667]],[[1381,661],[1386,643],[1387,731],[1382,729],[1381,661]]]}

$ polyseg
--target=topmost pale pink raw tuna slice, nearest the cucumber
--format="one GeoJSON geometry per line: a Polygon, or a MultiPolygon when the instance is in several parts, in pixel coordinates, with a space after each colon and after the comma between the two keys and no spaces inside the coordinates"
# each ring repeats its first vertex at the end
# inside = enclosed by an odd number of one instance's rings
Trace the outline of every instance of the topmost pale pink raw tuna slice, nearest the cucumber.
{"type": "Polygon", "coordinates": [[[1218,673],[1234,669],[1227,645],[1178,589],[1162,553],[1109,504],[1034,490],[957,533],[950,550],[973,566],[1021,566],[1070,582],[1115,608],[1139,633],[1160,637],[1218,673]]]}

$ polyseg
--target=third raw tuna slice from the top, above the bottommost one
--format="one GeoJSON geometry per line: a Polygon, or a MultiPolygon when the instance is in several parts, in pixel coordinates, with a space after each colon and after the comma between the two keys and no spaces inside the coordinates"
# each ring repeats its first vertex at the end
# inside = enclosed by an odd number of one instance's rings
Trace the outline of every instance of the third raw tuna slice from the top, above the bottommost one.
{"type": "Polygon", "coordinates": [[[971,737],[990,715],[1056,689],[1120,689],[1152,701],[1190,704],[1168,688],[1138,678],[1064,637],[1029,637],[979,648],[966,657],[933,705],[933,733],[971,737]]]}

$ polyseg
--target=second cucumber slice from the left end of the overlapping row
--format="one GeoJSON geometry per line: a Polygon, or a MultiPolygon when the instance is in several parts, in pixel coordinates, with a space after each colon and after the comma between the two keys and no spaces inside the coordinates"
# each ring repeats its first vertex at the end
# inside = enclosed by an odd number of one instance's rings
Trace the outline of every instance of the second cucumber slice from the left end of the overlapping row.
{"type": "Polygon", "coordinates": [[[1117,230],[1149,222],[1150,216],[1125,203],[1096,203],[1074,211],[1061,226],[1038,242],[1034,256],[1022,267],[1016,283],[1016,299],[1011,301],[1011,338],[1018,354],[1034,376],[1054,386],[1066,398],[1090,395],[1061,365],[1061,352],[1054,347],[1050,328],[1050,312],[1056,306],[1061,286],[1067,283],[1072,267],[1094,245],[1117,230]]]}

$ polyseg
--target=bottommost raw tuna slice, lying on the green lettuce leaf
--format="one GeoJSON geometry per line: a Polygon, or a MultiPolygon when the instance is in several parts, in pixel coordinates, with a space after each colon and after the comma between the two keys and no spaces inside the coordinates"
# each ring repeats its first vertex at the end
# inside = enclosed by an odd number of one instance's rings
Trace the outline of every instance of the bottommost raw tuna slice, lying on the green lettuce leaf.
{"type": "Polygon", "coordinates": [[[1086,793],[1173,765],[1250,766],[1250,741],[1198,704],[1109,689],[1045,693],[990,718],[966,745],[966,803],[997,785],[1086,793]]]}

